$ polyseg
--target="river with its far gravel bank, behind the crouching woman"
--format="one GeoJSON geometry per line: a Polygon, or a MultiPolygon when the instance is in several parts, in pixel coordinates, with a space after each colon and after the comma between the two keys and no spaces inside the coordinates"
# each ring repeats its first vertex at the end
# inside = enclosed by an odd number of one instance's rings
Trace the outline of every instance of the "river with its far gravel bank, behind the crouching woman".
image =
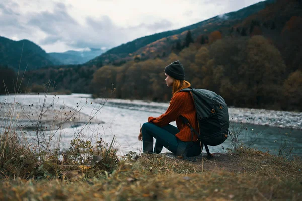
{"type": "MultiPolygon", "coordinates": [[[[43,105],[44,95],[17,95],[0,96],[2,107],[5,108],[10,103],[18,103],[21,106],[43,105]]],[[[95,115],[98,120],[89,124],[73,124],[72,119],[67,123],[69,126],[60,129],[56,135],[61,135],[61,148],[69,148],[70,140],[81,131],[82,136],[101,136],[106,142],[111,142],[115,136],[116,147],[119,154],[126,154],[129,151],[141,153],[142,142],[138,141],[140,125],[148,120],[149,116],[157,117],[165,112],[169,103],[146,102],[142,100],[119,100],[108,99],[104,104],[104,99],[93,99],[88,94],[72,95],[48,95],[45,105],[51,105],[50,110],[59,108],[81,108],[81,112],[88,116],[95,115]],[[52,103],[55,100],[55,103],[52,103]],[[104,104],[104,105],[103,105],[104,104]],[[78,105],[78,107],[77,107],[78,105]],[[97,110],[100,106],[103,107],[97,110]]],[[[20,107],[19,107],[20,108],[20,107]]],[[[0,111],[1,112],[1,111],[0,111]]],[[[302,113],[287,111],[271,111],[247,108],[229,108],[229,116],[235,128],[243,126],[240,139],[246,146],[254,147],[262,151],[269,151],[277,154],[278,149],[284,145],[293,146],[293,155],[302,155],[302,113]],[[242,124],[240,123],[242,122],[242,124]]],[[[23,121],[24,124],[24,121],[23,121]]],[[[176,126],[175,122],[171,123],[176,126]]],[[[0,129],[5,127],[5,122],[0,120],[0,129]]],[[[2,132],[3,129],[0,130],[2,132]]],[[[53,131],[48,131],[53,133],[53,131]]],[[[34,136],[34,133],[27,130],[27,135],[34,136]]],[[[93,139],[94,140],[94,139],[93,139]]],[[[226,148],[231,148],[231,139],[228,138],[222,145],[209,147],[213,153],[226,152],[226,148]]],[[[164,149],[162,152],[169,152],[164,149]]],[[[205,150],[203,150],[205,152],[205,150]]]]}

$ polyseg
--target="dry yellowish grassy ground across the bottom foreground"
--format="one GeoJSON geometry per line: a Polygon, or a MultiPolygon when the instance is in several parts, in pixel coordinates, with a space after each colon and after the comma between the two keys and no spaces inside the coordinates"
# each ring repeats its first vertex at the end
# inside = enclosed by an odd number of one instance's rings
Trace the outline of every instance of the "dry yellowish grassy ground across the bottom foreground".
{"type": "Polygon", "coordinates": [[[196,162],[149,155],[98,178],[4,180],[0,200],[300,200],[301,167],[300,159],[255,150],[196,162]]]}

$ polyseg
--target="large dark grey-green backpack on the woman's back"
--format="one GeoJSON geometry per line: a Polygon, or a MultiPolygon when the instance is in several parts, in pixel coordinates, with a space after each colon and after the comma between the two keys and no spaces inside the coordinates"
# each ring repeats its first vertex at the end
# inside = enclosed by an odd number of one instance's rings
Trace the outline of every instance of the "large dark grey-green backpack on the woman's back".
{"type": "Polygon", "coordinates": [[[199,131],[196,131],[185,117],[180,116],[180,118],[191,128],[192,140],[194,133],[197,134],[208,157],[211,157],[207,145],[220,145],[226,140],[230,132],[228,107],[224,99],[213,91],[195,88],[185,88],[179,92],[181,91],[188,91],[193,97],[199,131]]]}

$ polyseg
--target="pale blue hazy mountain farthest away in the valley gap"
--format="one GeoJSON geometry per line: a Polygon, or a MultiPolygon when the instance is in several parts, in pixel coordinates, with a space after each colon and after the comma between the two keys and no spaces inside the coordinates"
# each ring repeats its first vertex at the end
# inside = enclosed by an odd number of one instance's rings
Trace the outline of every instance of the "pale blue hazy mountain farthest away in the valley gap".
{"type": "Polygon", "coordinates": [[[104,52],[102,49],[98,48],[90,48],[88,50],[84,51],[73,51],[69,50],[67,52],[63,53],[57,53],[52,52],[49,53],[49,55],[58,61],[60,61],[62,64],[68,65],[68,64],[82,64],[85,63],[99,55],[101,55],[104,52]]]}

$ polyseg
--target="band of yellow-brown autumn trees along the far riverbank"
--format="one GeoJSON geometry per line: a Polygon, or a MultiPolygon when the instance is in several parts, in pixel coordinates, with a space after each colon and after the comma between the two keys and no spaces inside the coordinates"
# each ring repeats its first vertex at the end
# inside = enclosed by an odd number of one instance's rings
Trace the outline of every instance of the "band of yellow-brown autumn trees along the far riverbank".
{"type": "MultiPolygon", "coordinates": [[[[191,44],[178,55],[171,53],[165,59],[104,66],[94,74],[93,93],[105,96],[104,88],[110,89],[114,84],[115,98],[169,100],[171,90],[164,82],[164,68],[175,60],[182,62],[186,80],[193,87],[215,91],[228,105],[286,109],[281,103],[290,94],[283,93],[284,87],[295,91],[295,99],[302,97],[298,92],[301,86],[290,85],[290,80],[298,81],[300,71],[286,80],[280,51],[263,36],[222,39],[201,48],[191,44]]],[[[300,107],[294,103],[295,108],[300,107]]]]}

